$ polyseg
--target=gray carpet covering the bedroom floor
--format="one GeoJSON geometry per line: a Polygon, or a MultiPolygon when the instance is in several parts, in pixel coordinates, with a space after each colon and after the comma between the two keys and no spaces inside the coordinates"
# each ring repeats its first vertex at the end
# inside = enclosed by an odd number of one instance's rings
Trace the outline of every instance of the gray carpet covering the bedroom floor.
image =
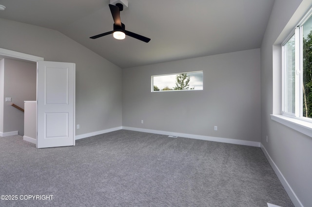
{"type": "Polygon", "coordinates": [[[293,207],[259,147],[128,130],[45,149],[0,137],[0,195],[18,196],[1,207],[293,207]]]}

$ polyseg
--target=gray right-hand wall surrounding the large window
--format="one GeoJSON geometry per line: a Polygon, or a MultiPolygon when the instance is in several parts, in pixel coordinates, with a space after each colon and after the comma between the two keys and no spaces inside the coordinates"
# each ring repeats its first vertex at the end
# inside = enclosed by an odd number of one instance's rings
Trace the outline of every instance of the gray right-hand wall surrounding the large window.
{"type": "Polygon", "coordinates": [[[272,121],[270,114],[281,113],[281,42],[311,5],[275,0],[261,45],[261,144],[305,207],[312,205],[312,138],[272,121]]]}

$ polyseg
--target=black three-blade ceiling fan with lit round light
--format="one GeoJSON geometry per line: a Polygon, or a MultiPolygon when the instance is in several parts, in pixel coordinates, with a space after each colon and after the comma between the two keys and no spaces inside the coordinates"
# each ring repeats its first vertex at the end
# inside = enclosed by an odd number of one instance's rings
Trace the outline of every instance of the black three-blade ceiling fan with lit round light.
{"type": "Polygon", "coordinates": [[[137,40],[140,40],[140,41],[149,42],[151,40],[150,38],[147,38],[147,37],[125,30],[125,25],[121,23],[121,20],[120,20],[120,11],[123,10],[123,5],[121,3],[117,3],[116,6],[113,4],[109,4],[109,8],[111,10],[111,13],[114,19],[114,30],[90,37],[91,39],[97,39],[97,38],[113,33],[114,38],[118,40],[125,39],[126,35],[136,38],[137,40]]]}

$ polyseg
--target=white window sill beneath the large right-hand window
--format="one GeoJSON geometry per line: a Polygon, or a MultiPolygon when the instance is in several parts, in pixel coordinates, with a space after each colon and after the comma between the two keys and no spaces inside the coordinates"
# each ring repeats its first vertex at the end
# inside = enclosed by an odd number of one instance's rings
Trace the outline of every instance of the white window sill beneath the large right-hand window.
{"type": "Polygon", "coordinates": [[[312,137],[312,123],[303,120],[287,117],[283,115],[271,114],[271,119],[280,124],[284,124],[296,131],[299,131],[309,137],[312,137]]]}

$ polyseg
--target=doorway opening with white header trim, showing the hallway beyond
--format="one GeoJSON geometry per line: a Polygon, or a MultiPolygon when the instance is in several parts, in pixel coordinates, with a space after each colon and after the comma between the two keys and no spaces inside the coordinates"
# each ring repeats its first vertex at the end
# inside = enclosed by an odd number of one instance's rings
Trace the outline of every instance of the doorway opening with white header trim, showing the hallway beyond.
{"type": "MultiPolygon", "coordinates": [[[[43,60],[0,48],[0,136],[24,135],[24,113],[11,105],[24,108],[24,101],[37,101],[37,62],[43,60]],[[29,90],[25,90],[25,87],[29,90]]],[[[30,141],[36,144],[36,140],[30,141]]]]}

